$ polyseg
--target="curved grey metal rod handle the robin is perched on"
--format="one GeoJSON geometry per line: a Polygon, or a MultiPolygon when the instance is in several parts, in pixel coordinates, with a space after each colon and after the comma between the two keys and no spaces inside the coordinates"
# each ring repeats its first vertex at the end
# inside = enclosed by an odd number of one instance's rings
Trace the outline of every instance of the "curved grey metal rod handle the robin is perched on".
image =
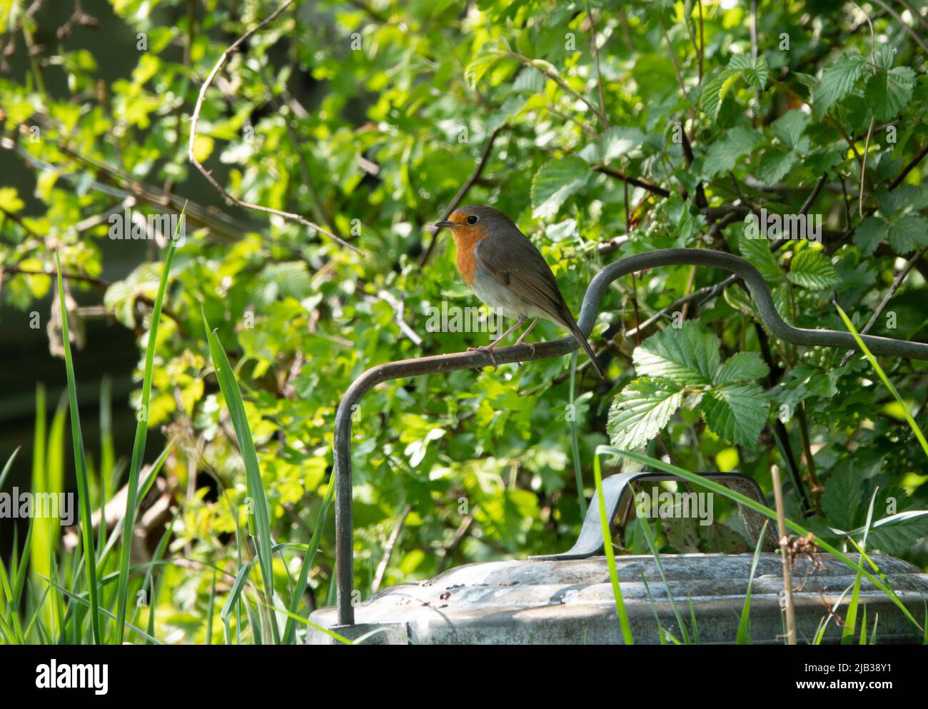
{"type": "MultiPolygon", "coordinates": [[[[830,329],[802,329],[788,325],[777,313],[767,283],[753,265],[739,256],[709,249],[665,249],[638,253],[619,259],[603,268],[589,284],[577,325],[588,337],[599,312],[599,302],[612,281],[646,268],[665,265],[704,265],[720,268],[735,274],[747,284],[754,296],[757,312],[770,332],[780,340],[810,346],[841,347],[857,350],[857,342],[849,332],[830,329]]],[[[861,335],[861,340],[874,355],[890,355],[928,360],[928,344],[893,340],[891,338],[861,335]]],[[[496,364],[527,362],[548,357],[560,357],[577,348],[573,337],[550,342],[536,342],[535,349],[527,344],[513,345],[495,350],[496,364]]],[[[339,623],[354,625],[352,590],[354,587],[354,527],[352,522],[351,430],[352,413],[365,393],[381,382],[417,377],[422,374],[487,367],[493,365],[485,352],[461,352],[454,355],[435,355],[388,362],[371,367],[358,377],[342,397],[335,414],[333,443],[335,475],[335,553],[338,574],[339,623]]]]}

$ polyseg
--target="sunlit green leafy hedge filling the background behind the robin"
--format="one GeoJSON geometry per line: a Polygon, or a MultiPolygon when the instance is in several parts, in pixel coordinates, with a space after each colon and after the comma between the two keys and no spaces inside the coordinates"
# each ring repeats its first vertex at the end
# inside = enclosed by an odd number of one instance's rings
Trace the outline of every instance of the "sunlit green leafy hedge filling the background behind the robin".
{"type": "MultiPolygon", "coordinates": [[[[34,175],[31,196],[0,187],[2,297],[26,317],[52,288],[41,274],[53,272],[58,250],[71,293],[99,302],[109,213],[122,213],[126,195],[144,213],[187,203],[148,411],[149,435],[174,441],[161,475],[177,505],[167,551],[175,560],[234,575],[236,522],[248,521],[245,471],[200,308],[242,389],[275,540],[304,544],[351,381],[383,362],[486,342],[425,328],[443,301],[476,304],[450,239],[429,230],[469,177],[463,203],[508,213],[548,259],[574,313],[602,264],[690,247],[750,260],[798,327],[844,329],[833,296],[859,329],[912,259],[870,332],[923,338],[928,25],[917,7],[904,25],[883,4],[760,2],[752,32],[750,3],[296,3],[228,59],[206,92],[194,149],[236,198],[303,214],[359,256],[297,222],[226,205],[187,160],[205,77],[277,4],[111,5],[120,44],[144,33],[147,49],[123,51],[125,78],[107,83],[93,44],[75,46],[73,28],[52,32],[66,16],[0,4],[8,36],[22,43],[16,51],[29,53],[22,75],[0,77],[3,147],[34,175]],[[43,32],[57,41],[37,46],[43,32]],[[49,81],[67,90],[46,90],[49,81]],[[770,242],[744,237],[747,213],[795,214],[810,198],[821,244],[793,240],[771,253],[770,242]],[[396,303],[421,342],[402,329],[396,303]],[[207,471],[220,493],[191,485],[191,471],[207,471]]],[[[134,250],[137,267],[102,303],[120,323],[113,327],[136,329],[141,348],[162,254],[144,241],[117,243],[134,250]]],[[[657,317],[640,345],[625,336],[724,277],[680,266],[616,283],[590,338],[609,380],[582,367],[574,409],[570,358],[369,393],[354,422],[361,597],[398,521],[382,586],[568,547],[581,519],[572,413],[586,496],[593,450],[612,438],[688,470],[747,473],[767,492],[770,467],[787,478],[793,458],[807,507],[793,484],[790,515],[808,516],[809,528],[836,541],[835,530],[866,522],[874,490],[875,519],[928,507],[922,450],[866,360],[842,364],[844,352],[768,338],[737,285],[657,317]]],[[[561,336],[548,324],[535,333],[561,336]]],[[[884,365],[923,427],[925,365],[884,365]]],[[[160,449],[150,445],[149,458],[160,449]]],[[[109,465],[104,457],[97,466],[97,502],[99,480],[117,470],[109,465]]],[[[663,550],[748,548],[733,515],[700,529],[666,525],[663,550]]],[[[926,534],[916,516],[868,543],[924,566],[926,534]]],[[[620,541],[647,550],[634,524],[620,541]]],[[[302,556],[277,554],[278,590],[296,579],[302,556]]],[[[333,567],[329,520],[309,576],[317,606],[334,602],[333,567]]],[[[156,572],[159,637],[206,639],[213,574],[203,568],[156,572]]],[[[221,599],[230,579],[217,583],[221,599]]],[[[218,624],[213,634],[221,637],[218,624]]]]}

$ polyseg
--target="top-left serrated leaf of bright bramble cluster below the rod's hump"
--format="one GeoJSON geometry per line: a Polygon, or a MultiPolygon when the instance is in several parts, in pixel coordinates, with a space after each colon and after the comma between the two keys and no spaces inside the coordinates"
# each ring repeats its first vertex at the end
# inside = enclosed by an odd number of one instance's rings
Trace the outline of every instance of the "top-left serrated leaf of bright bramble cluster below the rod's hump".
{"type": "Polygon", "coordinates": [[[638,376],[664,377],[680,385],[708,384],[720,355],[715,333],[694,320],[667,328],[641,342],[632,353],[638,376]]]}

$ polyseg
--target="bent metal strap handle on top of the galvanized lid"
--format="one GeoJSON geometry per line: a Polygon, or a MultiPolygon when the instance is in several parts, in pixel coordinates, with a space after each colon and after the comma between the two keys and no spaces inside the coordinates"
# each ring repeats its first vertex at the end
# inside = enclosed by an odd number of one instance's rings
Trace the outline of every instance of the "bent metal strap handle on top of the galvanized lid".
{"type": "MultiPolygon", "coordinates": [[[[741,475],[737,472],[701,472],[699,473],[707,480],[721,483],[728,487],[729,490],[741,493],[741,495],[753,497],[760,503],[764,503],[764,496],[760,487],[753,478],[747,475],[741,475]]],[[[632,483],[640,482],[664,483],[669,481],[685,482],[678,475],[671,475],[666,472],[620,472],[616,475],[610,475],[602,481],[602,496],[606,503],[606,517],[609,519],[609,525],[615,520],[616,515],[621,509],[621,519],[623,524],[628,517],[628,511],[631,509],[634,496],[632,495],[632,483]],[[625,494],[627,493],[627,495],[625,494]],[[625,504],[623,504],[625,503],[625,504]]],[[[744,520],[744,526],[747,527],[748,534],[757,543],[758,537],[764,530],[764,521],[767,519],[764,515],[754,509],[738,505],[738,511],[741,512],[741,518],[744,520]]],[[[567,559],[589,559],[602,553],[602,523],[599,521],[599,504],[594,494],[586,509],[586,519],[580,528],[580,535],[574,542],[574,546],[560,554],[543,554],[535,557],[529,557],[531,561],[554,561],[567,559]]],[[[775,551],[777,548],[777,539],[767,525],[767,534],[764,535],[764,551],[775,551]]]]}

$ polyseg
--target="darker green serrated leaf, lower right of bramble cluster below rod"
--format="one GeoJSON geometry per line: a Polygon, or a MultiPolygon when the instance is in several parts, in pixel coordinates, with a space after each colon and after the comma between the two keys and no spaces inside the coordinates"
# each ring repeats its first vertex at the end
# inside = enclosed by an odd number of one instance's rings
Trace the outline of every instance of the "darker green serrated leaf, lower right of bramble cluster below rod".
{"type": "Polygon", "coordinates": [[[754,445],[767,422],[767,397],[751,382],[723,384],[702,397],[706,425],[719,438],[736,445],[754,445]]]}

